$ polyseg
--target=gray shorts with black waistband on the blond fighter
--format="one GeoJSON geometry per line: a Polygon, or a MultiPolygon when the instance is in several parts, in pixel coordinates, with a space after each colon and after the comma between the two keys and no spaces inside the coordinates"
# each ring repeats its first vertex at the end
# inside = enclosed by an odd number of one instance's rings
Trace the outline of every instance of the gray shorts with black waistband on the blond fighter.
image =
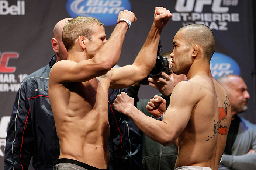
{"type": "Polygon", "coordinates": [[[53,170],[109,170],[107,169],[99,169],[83,162],[79,162],[73,159],[58,159],[57,164],[53,167],[53,170]]]}

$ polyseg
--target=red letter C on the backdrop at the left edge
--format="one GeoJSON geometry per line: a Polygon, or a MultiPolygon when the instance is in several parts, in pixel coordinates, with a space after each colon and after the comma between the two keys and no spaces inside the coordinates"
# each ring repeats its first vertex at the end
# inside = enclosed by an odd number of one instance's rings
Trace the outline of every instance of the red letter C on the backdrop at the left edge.
{"type": "MultiPolygon", "coordinates": [[[[0,53],[1,54],[1,53],[0,53]]],[[[8,67],[9,59],[18,59],[19,54],[17,52],[3,52],[0,57],[0,72],[1,73],[14,73],[16,67],[8,67]]]]}

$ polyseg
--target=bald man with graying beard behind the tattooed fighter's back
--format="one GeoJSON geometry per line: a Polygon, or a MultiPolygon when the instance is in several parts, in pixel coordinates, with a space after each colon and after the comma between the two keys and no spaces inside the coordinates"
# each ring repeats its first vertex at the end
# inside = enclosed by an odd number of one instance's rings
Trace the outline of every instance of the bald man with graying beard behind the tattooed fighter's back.
{"type": "Polygon", "coordinates": [[[228,92],[232,116],[219,169],[255,170],[256,125],[238,116],[247,110],[247,102],[250,99],[245,81],[232,74],[223,75],[216,80],[228,92]]]}

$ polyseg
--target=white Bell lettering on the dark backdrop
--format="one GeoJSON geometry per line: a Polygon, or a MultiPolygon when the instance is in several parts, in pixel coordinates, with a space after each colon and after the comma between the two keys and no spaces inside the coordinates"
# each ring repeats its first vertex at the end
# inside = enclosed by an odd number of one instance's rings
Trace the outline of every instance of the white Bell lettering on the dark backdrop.
{"type": "Polygon", "coordinates": [[[25,1],[17,1],[17,5],[11,5],[6,0],[0,0],[0,15],[25,15],[25,1]]]}

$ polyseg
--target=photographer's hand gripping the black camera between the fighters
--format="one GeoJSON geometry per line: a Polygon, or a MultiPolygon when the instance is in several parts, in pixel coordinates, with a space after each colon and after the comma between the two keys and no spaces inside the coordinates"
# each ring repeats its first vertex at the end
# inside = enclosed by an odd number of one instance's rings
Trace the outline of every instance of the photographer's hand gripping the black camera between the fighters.
{"type": "Polygon", "coordinates": [[[162,72],[161,74],[162,77],[155,77],[152,76],[152,78],[148,78],[149,85],[152,86],[153,88],[158,89],[158,91],[164,95],[168,96],[172,93],[174,89],[174,79],[173,79],[173,73],[167,75],[165,72],[162,72]]]}

